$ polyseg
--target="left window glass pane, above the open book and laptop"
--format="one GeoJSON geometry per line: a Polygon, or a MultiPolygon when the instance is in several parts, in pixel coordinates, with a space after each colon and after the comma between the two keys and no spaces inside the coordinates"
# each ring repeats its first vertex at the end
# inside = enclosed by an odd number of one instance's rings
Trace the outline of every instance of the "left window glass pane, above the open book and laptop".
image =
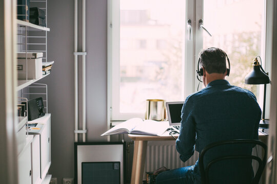
{"type": "Polygon", "coordinates": [[[144,113],[147,99],[184,100],[185,5],[183,0],[121,0],[121,113],[144,113]]]}

